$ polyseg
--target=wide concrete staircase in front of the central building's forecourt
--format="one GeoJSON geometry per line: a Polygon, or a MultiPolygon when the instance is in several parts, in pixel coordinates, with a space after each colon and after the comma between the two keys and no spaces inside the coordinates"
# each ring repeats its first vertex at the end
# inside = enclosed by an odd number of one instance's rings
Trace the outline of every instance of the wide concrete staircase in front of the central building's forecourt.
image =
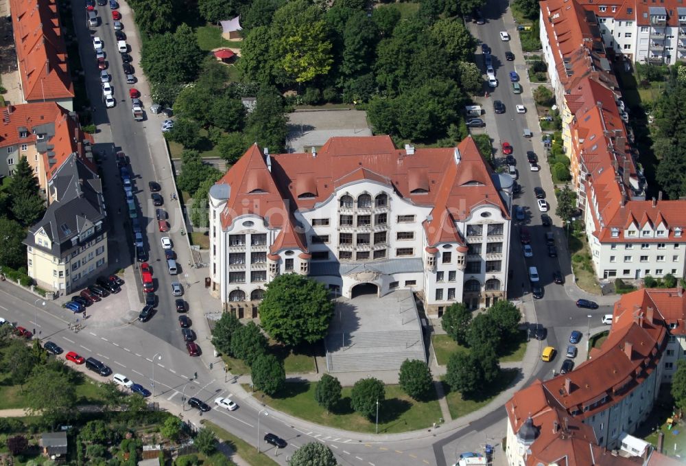
{"type": "Polygon", "coordinates": [[[398,370],[406,359],[426,362],[424,340],[418,326],[412,330],[329,334],[325,342],[329,372],[398,370]]]}

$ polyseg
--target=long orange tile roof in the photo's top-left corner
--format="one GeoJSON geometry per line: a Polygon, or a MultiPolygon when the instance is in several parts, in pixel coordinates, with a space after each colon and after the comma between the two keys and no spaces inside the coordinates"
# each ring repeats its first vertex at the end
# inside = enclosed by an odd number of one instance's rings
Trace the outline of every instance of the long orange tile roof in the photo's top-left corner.
{"type": "Polygon", "coordinates": [[[10,0],[24,100],[74,97],[55,0],[10,0]]]}

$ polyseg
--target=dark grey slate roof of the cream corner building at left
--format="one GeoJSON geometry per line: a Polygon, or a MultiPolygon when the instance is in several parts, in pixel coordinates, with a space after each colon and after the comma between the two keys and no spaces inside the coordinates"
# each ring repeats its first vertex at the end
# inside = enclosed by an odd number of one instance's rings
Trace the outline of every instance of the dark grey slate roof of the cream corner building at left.
{"type": "Polygon", "coordinates": [[[47,251],[55,257],[65,257],[80,247],[78,240],[73,243],[73,238],[96,226],[98,222],[102,223],[102,228],[95,229],[82,242],[88,242],[106,230],[106,210],[100,178],[75,154],[71,154],[59,167],[50,182],[49,191],[56,194],[56,201],[47,207],[43,218],[29,229],[24,244],[47,251]],[[34,241],[34,233],[41,228],[45,229],[50,238],[51,248],[34,241]]]}

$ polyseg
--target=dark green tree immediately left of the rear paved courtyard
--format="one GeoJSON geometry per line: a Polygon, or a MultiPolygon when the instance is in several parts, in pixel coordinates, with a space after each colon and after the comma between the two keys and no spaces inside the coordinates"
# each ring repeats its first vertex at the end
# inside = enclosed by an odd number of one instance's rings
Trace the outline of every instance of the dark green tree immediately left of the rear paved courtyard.
{"type": "Polygon", "coordinates": [[[274,88],[262,89],[257,93],[257,106],[248,115],[246,122],[246,140],[257,142],[272,153],[285,150],[288,134],[283,96],[274,88]]]}

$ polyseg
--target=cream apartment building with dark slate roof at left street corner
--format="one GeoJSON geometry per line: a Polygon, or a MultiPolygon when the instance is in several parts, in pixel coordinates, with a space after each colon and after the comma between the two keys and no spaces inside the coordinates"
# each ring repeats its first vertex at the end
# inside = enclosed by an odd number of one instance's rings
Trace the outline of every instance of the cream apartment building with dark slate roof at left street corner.
{"type": "Polygon", "coordinates": [[[107,212],[95,166],[71,154],[48,183],[43,219],[24,240],[27,270],[38,286],[67,294],[107,269],[107,212]]]}

